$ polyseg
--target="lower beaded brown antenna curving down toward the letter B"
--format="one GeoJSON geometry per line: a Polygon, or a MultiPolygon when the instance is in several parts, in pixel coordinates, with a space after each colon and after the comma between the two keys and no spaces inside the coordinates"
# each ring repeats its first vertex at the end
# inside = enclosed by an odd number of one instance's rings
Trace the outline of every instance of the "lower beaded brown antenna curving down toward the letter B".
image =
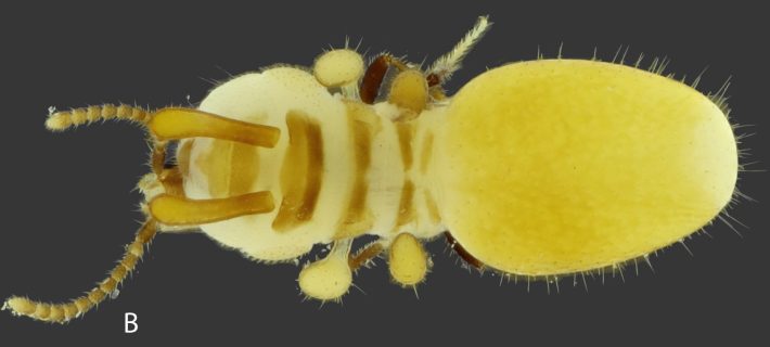
{"type": "Polygon", "coordinates": [[[15,316],[26,316],[35,320],[54,323],[66,323],[73,318],[85,314],[115,292],[118,284],[133,271],[137,261],[144,255],[144,245],[152,242],[156,231],[155,220],[147,219],[137,231],[133,242],[126,246],[126,254],[120,259],[120,262],[115,266],[105,280],[86,293],[86,295],[60,304],[41,303],[27,297],[12,296],[5,300],[2,309],[10,310],[15,316]]]}

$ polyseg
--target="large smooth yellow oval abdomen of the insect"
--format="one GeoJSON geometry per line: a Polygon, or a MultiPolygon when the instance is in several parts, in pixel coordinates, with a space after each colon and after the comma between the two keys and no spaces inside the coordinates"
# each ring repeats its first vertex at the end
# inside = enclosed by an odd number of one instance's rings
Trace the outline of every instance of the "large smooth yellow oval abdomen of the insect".
{"type": "Polygon", "coordinates": [[[737,151],[721,110],[637,68],[543,60],[491,69],[452,99],[437,141],[441,218],[511,273],[643,256],[730,201],[737,151]]]}

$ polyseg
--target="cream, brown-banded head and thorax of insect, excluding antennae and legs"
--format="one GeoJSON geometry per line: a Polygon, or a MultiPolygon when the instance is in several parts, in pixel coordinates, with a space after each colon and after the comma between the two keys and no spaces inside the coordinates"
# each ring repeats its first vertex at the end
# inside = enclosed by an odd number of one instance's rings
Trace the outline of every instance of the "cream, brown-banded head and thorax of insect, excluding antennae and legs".
{"type": "Polygon", "coordinates": [[[373,233],[440,231],[427,187],[429,119],[394,121],[399,108],[333,95],[309,73],[275,67],[219,86],[200,110],[281,130],[273,149],[208,138],[180,142],[190,198],[269,191],[277,208],[201,226],[213,239],[264,260],[316,243],[373,233]]]}

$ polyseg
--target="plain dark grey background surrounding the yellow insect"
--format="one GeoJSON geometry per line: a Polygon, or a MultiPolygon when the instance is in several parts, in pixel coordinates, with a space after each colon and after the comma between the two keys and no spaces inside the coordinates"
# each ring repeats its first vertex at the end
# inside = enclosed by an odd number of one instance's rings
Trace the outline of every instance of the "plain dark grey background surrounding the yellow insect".
{"type": "MultiPolygon", "coordinates": [[[[104,278],[133,237],[141,196],[132,189],[147,167],[142,133],[104,124],[65,133],[43,128],[47,108],[140,103],[151,107],[200,101],[227,73],[273,63],[311,64],[329,43],[363,39],[370,53],[387,49],[428,61],[465,34],[479,14],[492,30],[450,83],[462,83],[510,61],[554,56],[611,59],[620,44],[631,56],[667,55],[669,70],[694,76],[710,66],[702,90],[728,76],[734,121],[754,124],[745,141],[767,168],[769,28],[766,11],[655,2],[519,2],[453,5],[288,1],[236,8],[221,3],[88,7],[3,4],[2,101],[4,224],[0,297],[61,300],[104,278]],[[226,73],[227,72],[227,73],[226,73]]],[[[650,60],[646,60],[650,62],[650,60]]],[[[202,234],[159,235],[117,300],[85,319],[50,325],[0,312],[3,343],[409,344],[476,343],[626,345],[759,344],[767,336],[767,174],[746,172],[741,189],[759,200],[732,213],[736,235],[721,222],[713,237],[653,258],[655,273],[627,271],[589,281],[589,292],[563,280],[503,284],[455,266],[442,241],[428,247],[435,267],[414,293],[389,283],[383,260],[355,279],[344,305],[301,303],[292,265],[251,262],[202,234]],[[552,288],[553,290],[553,288],[552,288]],[[123,334],[123,313],[139,314],[137,334],[123,334]]]]}

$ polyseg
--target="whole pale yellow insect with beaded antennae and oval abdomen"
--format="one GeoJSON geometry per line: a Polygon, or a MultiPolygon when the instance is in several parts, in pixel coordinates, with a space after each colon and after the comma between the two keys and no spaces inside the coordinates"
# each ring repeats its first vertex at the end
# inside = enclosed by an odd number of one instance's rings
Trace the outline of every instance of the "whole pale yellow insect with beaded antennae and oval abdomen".
{"type": "MultiPolygon", "coordinates": [[[[422,242],[445,231],[471,265],[557,277],[621,265],[681,241],[730,202],[736,141],[721,94],[596,60],[537,60],[441,85],[488,29],[486,17],[427,69],[350,49],[311,69],[277,66],[211,90],[198,108],[120,105],[50,115],[54,131],[130,119],[154,145],[140,182],[146,221],[110,277],[64,304],[12,297],[15,314],[66,322],[130,273],[157,231],[200,230],[268,262],[313,245],[301,292],[334,300],[387,254],[412,287],[431,268],[422,242]],[[397,74],[386,95],[380,85],[397,74]],[[178,141],[176,166],[166,146],[178,141]],[[377,241],[351,253],[351,242],[377,241]]],[[[662,70],[663,68],[659,67],[662,70]]]]}

